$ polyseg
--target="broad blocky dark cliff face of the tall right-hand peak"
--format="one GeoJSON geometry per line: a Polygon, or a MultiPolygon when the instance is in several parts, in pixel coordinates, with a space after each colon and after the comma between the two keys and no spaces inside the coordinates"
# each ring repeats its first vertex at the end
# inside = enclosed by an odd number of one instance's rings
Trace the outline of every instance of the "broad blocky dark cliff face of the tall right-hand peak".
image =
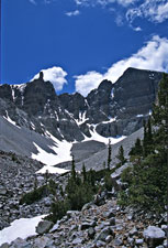
{"type": "Polygon", "coordinates": [[[146,115],[155,101],[160,73],[128,68],[114,85],[114,101],[120,109],[125,108],[123,115],[146,115]]]}

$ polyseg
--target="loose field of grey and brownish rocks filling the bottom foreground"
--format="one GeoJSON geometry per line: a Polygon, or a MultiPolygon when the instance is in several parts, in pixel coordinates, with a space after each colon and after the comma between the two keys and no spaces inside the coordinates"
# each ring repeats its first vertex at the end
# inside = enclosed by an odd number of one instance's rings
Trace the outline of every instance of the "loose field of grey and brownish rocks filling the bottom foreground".
{"type": "Polygon", "coordinates": [[[54,226],[42,220],[37,236],[18,238],[0,248],[167,247],[166,213],[156,216],[142,209],[122,209],[115,197],[107,197],[103,193],[101,201],[86,204],[81,212],[67,212],[54,226]]]}

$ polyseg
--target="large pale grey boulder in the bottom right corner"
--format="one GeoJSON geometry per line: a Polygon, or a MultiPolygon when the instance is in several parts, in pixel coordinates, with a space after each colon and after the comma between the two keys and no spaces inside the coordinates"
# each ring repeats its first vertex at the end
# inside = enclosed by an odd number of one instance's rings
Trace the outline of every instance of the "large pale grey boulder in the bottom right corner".
{"type": "Polygon", "coordinates": [[[161,245],[165,239],[165,231],[156,226],[148,226],[143,236],[149,247],[161,245]]]}

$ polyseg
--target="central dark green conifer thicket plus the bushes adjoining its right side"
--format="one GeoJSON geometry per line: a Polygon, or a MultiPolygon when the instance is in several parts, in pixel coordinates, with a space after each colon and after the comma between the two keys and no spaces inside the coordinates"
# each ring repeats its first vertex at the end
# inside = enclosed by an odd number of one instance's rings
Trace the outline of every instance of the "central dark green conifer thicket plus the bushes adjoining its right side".
{"type": "Polygon", "coordinates": [[[82,206],[93,200],[93,195],[104,188],[112,188],[111,171],[103,169],[101,171],[86,171],[82,165],[81,175],[76,172],[75,159],[71,161],[71,173],[65,188],[66,197],[61,202],[55,202],[51,208],[51,215],[47,219],[54,223],[60,219],[67,211],[80,211],[82,206]],[[99,182],[104,177],[104,186],[100,187],[99,182]]]}

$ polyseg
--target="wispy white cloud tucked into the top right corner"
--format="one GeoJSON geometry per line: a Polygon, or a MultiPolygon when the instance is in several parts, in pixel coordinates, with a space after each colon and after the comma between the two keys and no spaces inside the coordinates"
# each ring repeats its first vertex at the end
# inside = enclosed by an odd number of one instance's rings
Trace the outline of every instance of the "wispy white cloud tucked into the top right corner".
{"type": "Polygon", "coordinates": [[[127,10],[126,18],[131,23],[139,17],[156,23],[166,21],[168,19],[167,0],[145,0],[138,7],[127,10]]]}

